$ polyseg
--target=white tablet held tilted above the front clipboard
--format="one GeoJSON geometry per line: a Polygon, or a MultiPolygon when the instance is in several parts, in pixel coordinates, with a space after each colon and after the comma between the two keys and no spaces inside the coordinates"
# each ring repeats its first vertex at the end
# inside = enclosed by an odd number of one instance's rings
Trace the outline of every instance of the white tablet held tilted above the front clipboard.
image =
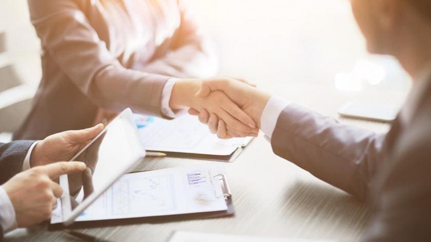
{"type": "Polygon", "coordinates": [[[85,162],[87,170],[60,176],[64,190],[61,197],[64,225],[72,224],[144,156],[132,111],[126,109],[71,159],[85,162]]]}

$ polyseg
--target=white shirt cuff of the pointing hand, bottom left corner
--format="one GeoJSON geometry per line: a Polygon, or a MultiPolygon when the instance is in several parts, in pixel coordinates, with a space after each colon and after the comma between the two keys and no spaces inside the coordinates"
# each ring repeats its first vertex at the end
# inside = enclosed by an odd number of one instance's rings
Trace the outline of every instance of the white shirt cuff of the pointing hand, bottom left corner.
{"type": "Polygon", "coordinates": [[[6,193],[5,189],[0,186],[0,224],[3,227],[4,233],[7,233],[16,228],[15,209],[12,202],[6,193]]]}

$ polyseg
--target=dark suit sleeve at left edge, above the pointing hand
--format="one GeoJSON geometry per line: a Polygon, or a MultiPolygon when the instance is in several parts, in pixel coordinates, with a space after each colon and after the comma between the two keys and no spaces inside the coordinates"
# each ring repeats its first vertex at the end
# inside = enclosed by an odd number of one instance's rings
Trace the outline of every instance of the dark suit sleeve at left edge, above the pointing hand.
{"type": "Polygon", "coordinates": [[[21,172],[24,159],[34,141],[20,140],[8,144],[0,143],[0,184],[21,172]]]}

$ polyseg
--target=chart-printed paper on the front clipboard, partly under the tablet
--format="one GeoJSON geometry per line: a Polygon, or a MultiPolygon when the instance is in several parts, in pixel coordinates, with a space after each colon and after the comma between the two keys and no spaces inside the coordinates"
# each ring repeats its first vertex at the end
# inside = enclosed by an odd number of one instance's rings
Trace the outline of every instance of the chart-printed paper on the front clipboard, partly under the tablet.
{"type": "MultiPolygon", "coordinates": [[[[76,221],[224,211],[221,181],[212,179],[217,174],[217,165],[126,174],[76,221]]],[[[61,206],[57,206],[51,224],[61,221],[61,206]]]]}

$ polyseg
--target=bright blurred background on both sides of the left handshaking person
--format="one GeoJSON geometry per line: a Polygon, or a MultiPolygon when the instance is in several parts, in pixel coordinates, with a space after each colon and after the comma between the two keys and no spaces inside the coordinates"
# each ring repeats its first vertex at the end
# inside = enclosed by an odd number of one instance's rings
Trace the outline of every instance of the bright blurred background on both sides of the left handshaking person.
{"type": "MultiPolygon", "coordinates": [[[[348,1],[188,2],[218,45],[220,75],[335,117],[349,100],[399,106],[410,88],[396,60],[367,54],[348,1]]],[[[29,110],[41,78],[39,45],[27,1],[0,1],[0,140],[29,110]]]]}

